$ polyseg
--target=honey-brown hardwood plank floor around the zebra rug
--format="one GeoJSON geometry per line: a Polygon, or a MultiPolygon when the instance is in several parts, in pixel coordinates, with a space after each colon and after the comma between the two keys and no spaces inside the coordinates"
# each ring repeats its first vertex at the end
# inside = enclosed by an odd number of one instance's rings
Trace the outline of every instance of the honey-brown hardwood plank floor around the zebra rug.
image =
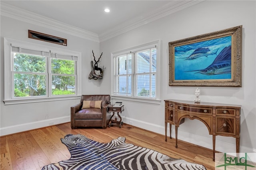
{"type": "Polygon", "coordinates": [[[98,142],[110,142],[119,136],[126,137],[126,143],[150,148],[172,158],[181,158],[188,162],[203,164],[208,170],[214,170],[212,150],[179,141],[175,148],[175,138],[168,138],[124,124],[122,128],[77,128],[71,129],[70,123],[20,132],[0,138],[1,170],[41,170],[47,164],[67,160],[70,153],[60,138],[66,134],[83,134],[98,142]]]}

